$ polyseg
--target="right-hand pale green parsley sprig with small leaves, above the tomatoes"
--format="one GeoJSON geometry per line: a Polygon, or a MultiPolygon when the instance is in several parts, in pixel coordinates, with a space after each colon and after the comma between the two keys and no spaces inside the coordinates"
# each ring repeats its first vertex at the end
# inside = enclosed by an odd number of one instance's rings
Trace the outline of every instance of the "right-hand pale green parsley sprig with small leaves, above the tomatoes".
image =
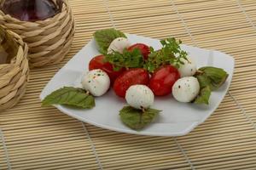
{"type": "Polygon", "coordinates": [[[174,37],[161,40],[163,48],[154,51],[154,48],[150,48],[150,54],[148,60],[144,64],[144,68],[149,72],[154,72],[161,65],[174,65],[177,68],[179,65],[183,65],[183,59],[187,59],[187,53],[180,48],[182,43],[177,41],[174,37]]]}

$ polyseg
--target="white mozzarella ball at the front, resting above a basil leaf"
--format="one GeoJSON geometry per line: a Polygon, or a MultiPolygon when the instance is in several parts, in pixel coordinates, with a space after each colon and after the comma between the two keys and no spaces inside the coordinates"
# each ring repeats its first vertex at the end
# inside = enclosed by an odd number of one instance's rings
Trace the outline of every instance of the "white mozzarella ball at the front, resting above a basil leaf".
{"type": "Polygon", "coordinates": [[[154,103],[154,94],[145,85],[133,85],[126,91],[125,99],[131,107],[147,109],[154,103]]]}

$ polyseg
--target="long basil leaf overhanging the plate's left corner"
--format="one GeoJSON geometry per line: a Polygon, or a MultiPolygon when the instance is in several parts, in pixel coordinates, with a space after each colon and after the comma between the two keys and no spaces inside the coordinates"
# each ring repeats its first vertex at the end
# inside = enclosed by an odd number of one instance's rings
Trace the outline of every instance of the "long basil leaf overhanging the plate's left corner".
{"type": "Polygon", "coordinates": [[[95,106],[95,99],[86,94],[82,88],[64,87],[55,90],[42,101],[42,106],[71,105],[78,108],[90,109],[95,106]]]}

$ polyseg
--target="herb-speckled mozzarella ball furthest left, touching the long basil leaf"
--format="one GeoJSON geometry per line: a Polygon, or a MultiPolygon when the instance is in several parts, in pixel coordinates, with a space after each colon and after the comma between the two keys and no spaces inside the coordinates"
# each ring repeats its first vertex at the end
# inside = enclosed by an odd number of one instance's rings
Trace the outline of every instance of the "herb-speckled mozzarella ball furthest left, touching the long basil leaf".
{"type": "Polygon", "coordinates": [[[82,78],[82,86],[94,96],[101,96],[108,91],[110,79],[108,74],[101,69],[88,71],[82,78]]]}

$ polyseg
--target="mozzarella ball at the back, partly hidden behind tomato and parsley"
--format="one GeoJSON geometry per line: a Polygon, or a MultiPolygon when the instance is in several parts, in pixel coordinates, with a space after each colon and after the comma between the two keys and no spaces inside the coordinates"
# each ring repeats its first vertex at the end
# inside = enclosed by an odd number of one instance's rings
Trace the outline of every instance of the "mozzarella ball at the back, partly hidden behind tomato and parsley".
{"type": "Polygon", "coordinates": [[[108,54],[113,53],[113,51],[118,51],[120,54],[123,54],[125,48],[129,48],[131,43],[125,37],[118,37],[110,43],[108,47],[108,54]]]}

